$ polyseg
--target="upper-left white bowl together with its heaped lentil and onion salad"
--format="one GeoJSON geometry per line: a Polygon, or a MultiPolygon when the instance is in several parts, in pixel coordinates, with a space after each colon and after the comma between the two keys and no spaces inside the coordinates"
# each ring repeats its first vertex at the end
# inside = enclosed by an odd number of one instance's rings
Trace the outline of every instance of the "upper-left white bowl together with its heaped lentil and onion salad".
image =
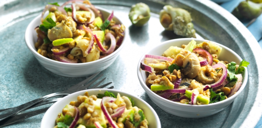
{"type": "Polygon", "coordinates": [[[27,26],[25,42],[52,73],[88,76],[109,67],[125,44],[125,27],[113,13],[89,1],[49,3],[27,26]]]}

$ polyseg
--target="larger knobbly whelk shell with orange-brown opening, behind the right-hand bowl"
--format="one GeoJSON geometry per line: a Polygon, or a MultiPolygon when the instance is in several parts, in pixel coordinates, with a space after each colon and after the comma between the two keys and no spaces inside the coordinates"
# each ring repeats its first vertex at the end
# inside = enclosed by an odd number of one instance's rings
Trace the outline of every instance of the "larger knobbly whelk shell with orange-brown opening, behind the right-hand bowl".
{"type": "Polygon", "coordinates": [[[185,9],[166,5],[159,15],[160,23],[166,30],[173,30],[176,35],[196,38],[191,15],[185,9]]]}

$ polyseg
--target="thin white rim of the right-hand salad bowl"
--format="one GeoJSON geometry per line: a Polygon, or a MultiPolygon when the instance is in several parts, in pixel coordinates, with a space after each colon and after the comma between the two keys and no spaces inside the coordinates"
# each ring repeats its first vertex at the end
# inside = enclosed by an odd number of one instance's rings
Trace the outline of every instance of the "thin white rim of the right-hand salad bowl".
{"type": "MultiPolygon", "coordinates": [[[[161,97],[161,96],[159,96],[159,95],[157,95],[157,94],[155,94],[153,91],[151,91],[149,88],[148,88],[148,86],[146,86],[146,84],[145,84],[145,82],[144,82],[144,80],[143,80],[143,78],[142,78],[142,74],[141,74],[141,69],[140,69],[140,63],[141,63],[141,61],[142,61],[142,59],[144,59],[144,56],[146,55],[146,53],[148,53],[148,52],[150,52],[152,49],[154,49],[154,48],[157,48],[157,47],[160,47],[161,45],[164,45],[164,44],[167,44],[167,43],[171,43],[171,42],[173,42],[173,43],[175,43],[175,42],[177,42],[177,41],[188,41],[188,42],[190,42],[192,39],[194,39],[194,38],[180,38],[180,39],[171,39],[171,40],[167,40],[167,41],[164,41],[164,42],[162,42],[161,44],[159,44],[159,45],[157,45],[157,46],[155,46],[155,47],[153,47],[153,48],[151,48],[150,50],[148,50],[147,52],[145,52],[143,55],[142,55],[142,57],[140,58],[140,60],[139,60],[139,63],[138,63],[138,66],[137,66],[137,76],[138,76],[138,79],[139,79],[139,82],[140,82],[140,85],[143,87],[143,89],[145,90],[145,92],[146,93],[150,93],[151,95],[153,95],[154,97],[156,97],[156,98],[160,98],[163,102],[166,102],[166,103],[168,103],[168,104],[170,104],[170,105],[182,105],[182,106],[184,106],[184,107],[193,107],[193,108],[202,108],[202,107],[213,107],[213,106],[217,106],[217,105],[219,105],[219,104],[223,104],[223,103],[226,103],[226,102],[229,102],[229,101],[233,101],[241,92],[242,92],[242,90],[244,90],[244,88],[245,88],[245,86],[246,86],[246,84],[247,84],[247,81],[248,81],[248,70],[247,70],[247,68],[246,67],[244,67],[245,68],[245,75],[244,76],[242,76],[242,77],[244,77],[244,79],[242,79],[242,84],[241,84],[241,87],[239,88],[239,90],[234,94],[234,95],[232,95],[231,97],[229,97],[229,98],[227,98],[227,99],[225,99],[225,100],[223,100],[223,101],[219,101],[219,102],[216,102],[216,103],[212,103],[212,104],[208,104],[208,105],[188,105],[188,104],[182,104],[182,103],[177,103],[177,102],[174,102],[174,101],[170,101],[170,100],[168,100],[168,99],[165,99],[165,98],[163,98],[163,97],[161,97]],[[142,83],[142,84],[141,84],[142,83]]],[[[209,42],[210,40],[206,40],[206,39],[194,39],[196,42],[209,42]]],[[[214,42],[214,41],[211,41],[211,42],[214,42]]],[[[226,47],[226,46],[224,46],[224,45],[222,45],[222,44],[219,44],[219,43],[217,43],[217,42],[214,42],[215,44],[217,44],[217,45],[219,45],[220,47],[222,47],[222,48],[225,48],[226,50],[228,50],[229,52],[232,52],[239,60],[242,60],[242,58],[238,55],[238,54],[236,54],[233,50],[231,50],[230,48],[228,48],[228,47],[226,47]]]]}

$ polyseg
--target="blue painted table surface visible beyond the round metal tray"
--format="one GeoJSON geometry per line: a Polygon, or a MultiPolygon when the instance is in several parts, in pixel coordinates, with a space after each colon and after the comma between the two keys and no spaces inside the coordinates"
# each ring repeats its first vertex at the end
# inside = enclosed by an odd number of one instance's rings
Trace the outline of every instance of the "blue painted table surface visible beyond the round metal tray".
{"type": "MultiPolygon", "coordinates": [[[[232,12],[235,7],[239,5],[243,0],[232,0],[229,2],[220,3],[220,6],[225,8],[227,11],[232,12]]],[[[248,30],[253,34],[262,48],[262,15],[253,20],[240,20],[248,30]]],[[[262,128],[262,117],[255,126],[255,128],[262,128]]]]}

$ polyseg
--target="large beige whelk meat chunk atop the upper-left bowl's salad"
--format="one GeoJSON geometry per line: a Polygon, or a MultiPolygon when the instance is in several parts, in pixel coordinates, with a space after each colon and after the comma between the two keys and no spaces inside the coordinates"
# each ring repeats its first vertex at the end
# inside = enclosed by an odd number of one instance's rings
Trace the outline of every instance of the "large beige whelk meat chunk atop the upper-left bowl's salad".
{"type": "Polygon", "coordinates": [[[70,28],[62,21],[51,30],[48,30],[47,34],[50,41],[54,41],[56,39],[63,39],[63,38],[72,38],[73,33],[70,28]]]}

